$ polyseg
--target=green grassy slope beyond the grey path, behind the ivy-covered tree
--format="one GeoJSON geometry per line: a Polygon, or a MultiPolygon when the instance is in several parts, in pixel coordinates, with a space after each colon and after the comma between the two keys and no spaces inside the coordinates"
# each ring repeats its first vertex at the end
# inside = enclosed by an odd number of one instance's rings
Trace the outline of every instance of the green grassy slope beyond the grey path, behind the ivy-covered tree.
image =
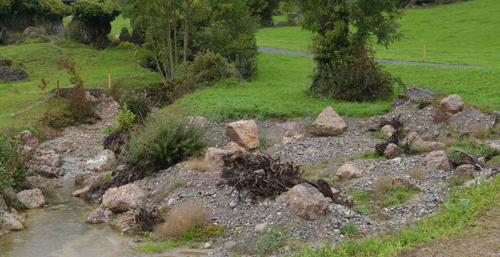
{"type": "MultiPolygon", "coordinates": [[[[428,62],[500,67],[500,5],[497,0],[474,0],[458,4],[405,10],[399,22],[404,38],[389,50],[377,46],[377,57],[422,61],[424,44],[428,62]],[[416,52],[416,53],[412,53],[416,52]],[[443,54],[433,54],[443,53],[443,54]],[[454,55],[471,54],[471,55],[454,55]]],[[[311,33],[300,27],[259,30],[259,46],[308,51],[311,33]]]]}

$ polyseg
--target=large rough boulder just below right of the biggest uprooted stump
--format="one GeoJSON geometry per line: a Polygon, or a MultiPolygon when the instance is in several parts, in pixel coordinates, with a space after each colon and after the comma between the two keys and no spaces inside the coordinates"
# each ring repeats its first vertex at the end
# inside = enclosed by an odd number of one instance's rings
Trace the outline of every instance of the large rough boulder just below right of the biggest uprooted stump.
{"type": "Polygon", "coordinates": [[[294,186],[288,192],[279,196],[276,201],[288,202],[291,211],[309,221],[314,221],[323,216],[328,209],[327,198],[309,183],[294,186]]]}

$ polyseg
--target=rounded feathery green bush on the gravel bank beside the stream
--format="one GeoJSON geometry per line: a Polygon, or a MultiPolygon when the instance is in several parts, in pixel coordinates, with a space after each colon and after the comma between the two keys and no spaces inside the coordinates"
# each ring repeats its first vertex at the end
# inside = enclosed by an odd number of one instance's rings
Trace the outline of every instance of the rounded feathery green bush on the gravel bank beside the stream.
{"type": "Polygon", "coordinates": [[[154,116],[131,133],[127,161],[143,166],[168,168],[204,151],[206,124],[174,114],[154,116]]]}

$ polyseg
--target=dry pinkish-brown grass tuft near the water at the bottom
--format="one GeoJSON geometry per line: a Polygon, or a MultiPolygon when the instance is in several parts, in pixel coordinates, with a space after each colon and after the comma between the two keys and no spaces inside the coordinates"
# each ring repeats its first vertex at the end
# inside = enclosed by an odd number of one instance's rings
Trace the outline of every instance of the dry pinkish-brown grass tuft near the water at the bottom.
{"type": "Polygon", "coordinates": [[[158,230],[164,238],[179,239],[194,228],[206,225],[209,220],[210,214],[201,203],[183,203],[172,210],[158,230]]]}

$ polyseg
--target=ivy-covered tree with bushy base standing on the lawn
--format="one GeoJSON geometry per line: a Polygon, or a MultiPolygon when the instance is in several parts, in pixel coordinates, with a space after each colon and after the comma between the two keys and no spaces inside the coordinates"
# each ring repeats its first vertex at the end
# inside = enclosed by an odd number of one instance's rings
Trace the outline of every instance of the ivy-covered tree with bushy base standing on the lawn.
{"type": "Polygon", "coordinates": [[[391,96],[397,79],[374,60],[370,40],[389,46],[400,38],[397,0],[292,0],[316,34],[313,96],[371,101],[391,96]]]}

